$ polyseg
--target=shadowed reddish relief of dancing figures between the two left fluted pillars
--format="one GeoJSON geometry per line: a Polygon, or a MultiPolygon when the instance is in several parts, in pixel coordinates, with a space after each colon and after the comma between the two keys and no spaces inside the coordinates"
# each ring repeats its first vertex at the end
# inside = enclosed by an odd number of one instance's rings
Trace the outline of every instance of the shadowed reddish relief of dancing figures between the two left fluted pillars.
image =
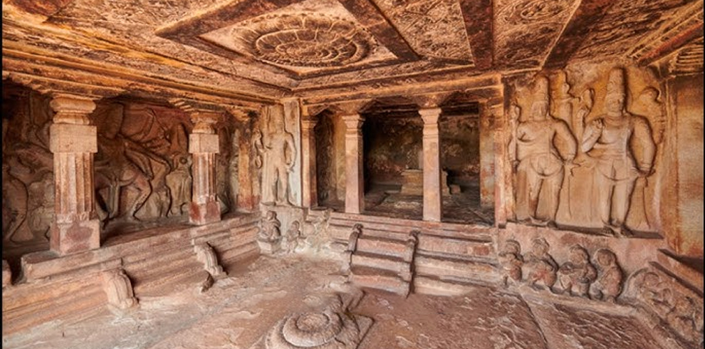
{"type": "Polygon", "coordinates": [[[190,202],[190,123],[179,110],[138,103],[99,104],[95,187],[98,215],[140,220],[184,214],[190,202]]]}

